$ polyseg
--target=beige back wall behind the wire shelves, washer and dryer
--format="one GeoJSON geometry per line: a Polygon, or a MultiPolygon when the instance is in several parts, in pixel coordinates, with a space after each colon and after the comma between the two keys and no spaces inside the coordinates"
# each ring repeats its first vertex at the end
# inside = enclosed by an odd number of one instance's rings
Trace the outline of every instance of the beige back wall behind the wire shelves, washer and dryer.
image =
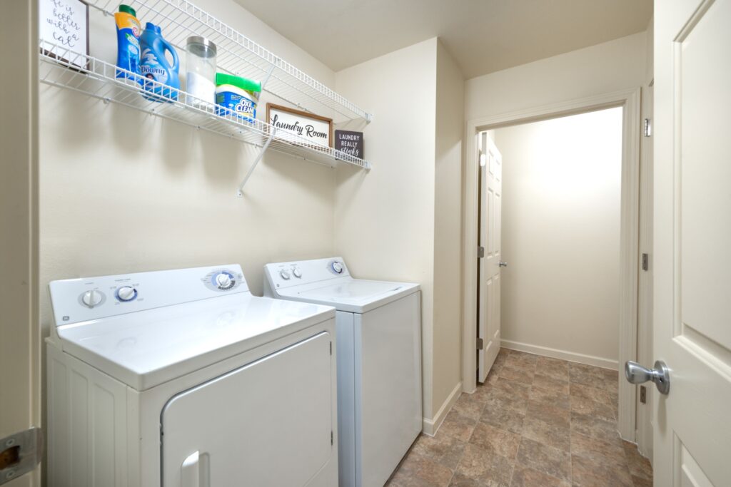
{"type": "MultiPolygon", "coordinates": [[[[233,1],[206,9],[333,85],[333,72],[233,1]]],[[[92,54],[114,62],[112,18],[91,18],[92,54]]],[[[261,294],[265,263],[333,253],[333,169],[270,151],[239,199],[257,148],[48,85],[40,92],[44,288],[58,278],[235,262],[261,294]]],[[[43,292],[45,327],[50,320],[43,292]]]]}

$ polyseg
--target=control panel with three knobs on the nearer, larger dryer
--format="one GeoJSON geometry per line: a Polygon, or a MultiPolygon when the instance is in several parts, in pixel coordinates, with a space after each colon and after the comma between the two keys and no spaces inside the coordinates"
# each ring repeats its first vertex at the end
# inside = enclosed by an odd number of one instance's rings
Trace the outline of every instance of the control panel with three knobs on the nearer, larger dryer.
{"type": "Polygon", "coordinates": [[[48,288],[56,326],[249,291],[237,264],[55,280],[48,288]]]}

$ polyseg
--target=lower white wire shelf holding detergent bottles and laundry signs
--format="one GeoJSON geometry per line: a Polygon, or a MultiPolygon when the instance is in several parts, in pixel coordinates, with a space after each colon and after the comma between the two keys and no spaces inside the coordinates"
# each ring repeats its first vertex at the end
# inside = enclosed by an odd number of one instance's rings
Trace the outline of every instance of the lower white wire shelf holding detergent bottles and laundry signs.
{"type": "MultiPolygon", "coordinates": [[[[219,115],[220,107],[195,98],[185,91],[178,91],[178,99],[173,101],[154,101],[145,99],[140,83],[150,83],[164,88],[164,85],[141,77],[138,74],[119,69],[100,59],[81,55],[65,47],[45,42],[41,39],[41,63],[39,80],[41,83],[60,88],[68,88],[100,99],[105,103],[117,103],[148,112],[162,118],[176,120],[197,129],[211,131],[224,137],[276,150],[308,161],[334,166],[338,161],[352,164],[363,169],[371,169],[371,163],[340,150],[320,145],[299,137],[291,132],[276,129],[262,120],[243,120],[233,112],[219,115]],[[86,66],[80,69],[78,66],[86,66]],[[115,77],[124,71],[126,78],[115,77]]],[[[149,94],[149,93],[148,93],[149,94]]],[[[257,158],[258,162],[260,157],[257,158]]],[[[253,165],[251,167],[253,169],[253,165]]],[[[248,179],[247,175],[247,179],[248,179]]],[[[246,183],[246,180],[244,180],[246,183]]],[[[243,183],[239,191],[243,187],[243,183]]]]}

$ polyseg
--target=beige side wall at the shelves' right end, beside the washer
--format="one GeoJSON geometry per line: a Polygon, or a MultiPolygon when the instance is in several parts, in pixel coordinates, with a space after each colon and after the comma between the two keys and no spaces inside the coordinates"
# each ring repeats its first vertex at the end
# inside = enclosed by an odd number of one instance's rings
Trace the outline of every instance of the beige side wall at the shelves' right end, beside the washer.
{"type": "Polygon", "coordinates": [[[336,169],[335,249],[357,277],[422,286],[424,416],[431,418],[433,361],[436,39],[337,74],[336,89],[369,107],[371,172],[336,169]]]}

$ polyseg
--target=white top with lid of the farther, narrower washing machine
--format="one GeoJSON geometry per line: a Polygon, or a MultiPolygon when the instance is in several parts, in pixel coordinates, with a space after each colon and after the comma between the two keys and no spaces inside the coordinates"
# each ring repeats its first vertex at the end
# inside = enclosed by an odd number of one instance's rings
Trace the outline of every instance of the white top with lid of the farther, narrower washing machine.
{"type": "Polygon", "coordinates": [[[418,284],[347,278],[321,287],[287,288],[279,294],[287,299],[329,304],[337,310],[363,313],[418,290],[418,284]]]}

